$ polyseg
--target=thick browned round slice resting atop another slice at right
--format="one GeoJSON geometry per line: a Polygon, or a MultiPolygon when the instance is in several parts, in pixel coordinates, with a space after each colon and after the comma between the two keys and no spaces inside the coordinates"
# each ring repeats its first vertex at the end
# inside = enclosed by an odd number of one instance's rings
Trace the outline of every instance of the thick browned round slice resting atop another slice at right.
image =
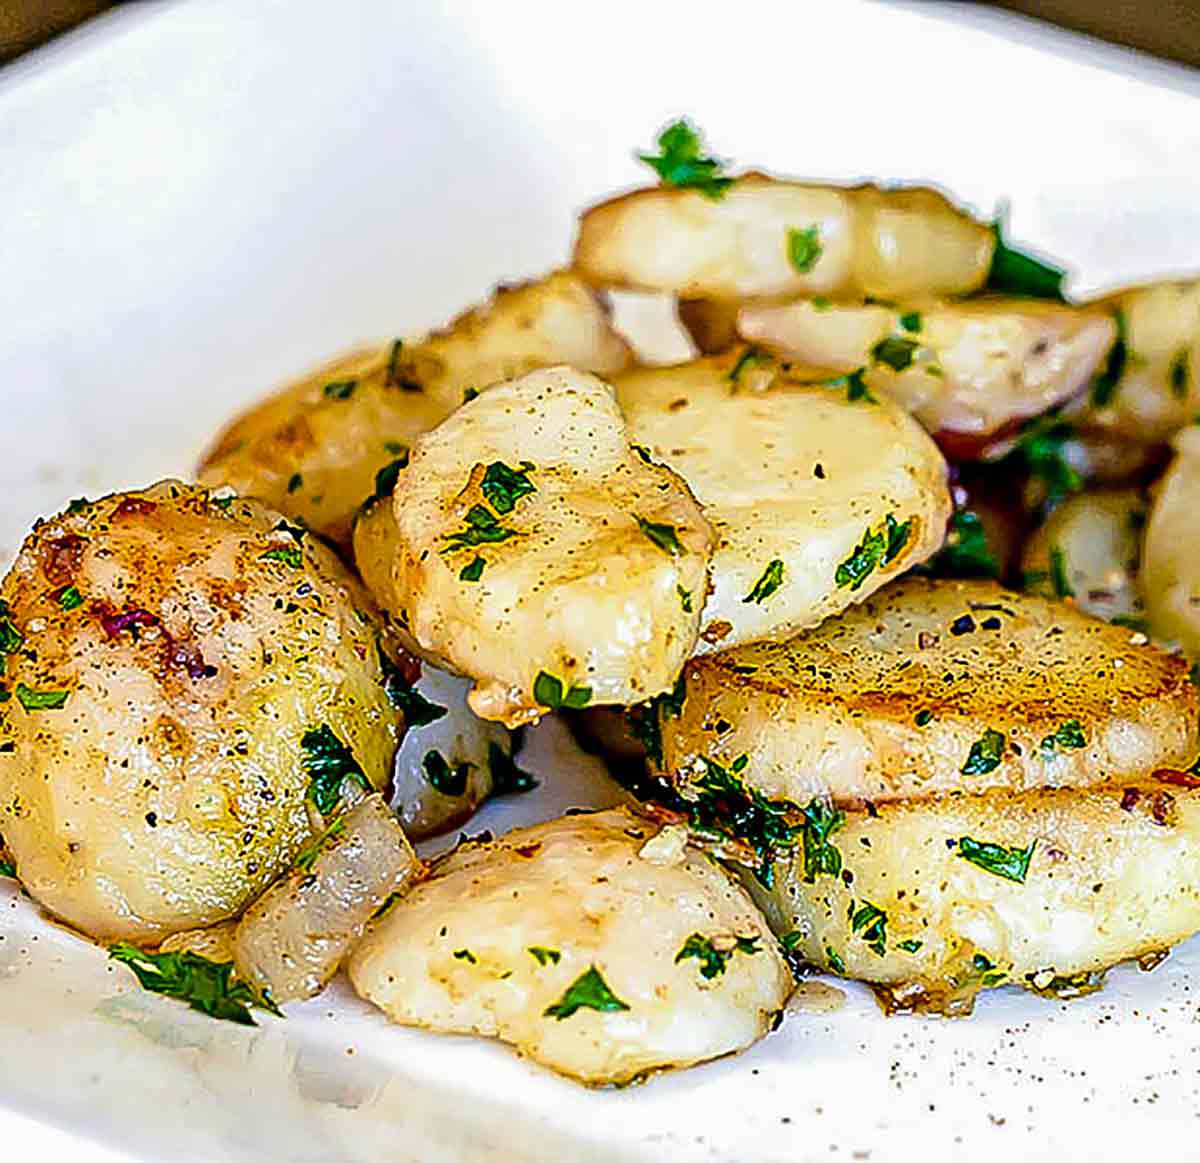
{"type": "Polygon", "coordinates": [[[694,659],[685,678],[661,719],[685,795],[713,763],[770,799],[878,804],[1086,787],[1196,755],[1183,659],[991,582],[905,580],[786,642],[694,659]]]}

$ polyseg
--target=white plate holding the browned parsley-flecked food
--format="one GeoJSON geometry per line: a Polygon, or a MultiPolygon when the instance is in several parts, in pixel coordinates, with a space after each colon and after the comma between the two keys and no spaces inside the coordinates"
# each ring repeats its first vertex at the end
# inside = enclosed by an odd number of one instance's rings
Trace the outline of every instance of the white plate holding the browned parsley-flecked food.
{"type": "MultiPolygon", "coordinates": [[[[961,7],[118,12],[0,74],[0,548],[68,497],[186,473],[310,364],[560,263],[576,210],[646,180],[632,150],[678,113],[746,163],[1010,198],[1014,235],[1090,289],[1200,269],[1198,95],[1183,70],[961,7]]],[[[550,795],[480,826],[611,795],[560,744],[536,736],[550,795]]],[[[959,1023],[888,1020],[847,987],[738,1059],[588,1092],[391,1027],[342,987],[257,1031],[210,1021],[0,888],[0,1141],[322,1163],[1170,1155],[1195,1134],[1198,965],[1192,942],[1100,995],[1006,990],[959,1023]]]]}

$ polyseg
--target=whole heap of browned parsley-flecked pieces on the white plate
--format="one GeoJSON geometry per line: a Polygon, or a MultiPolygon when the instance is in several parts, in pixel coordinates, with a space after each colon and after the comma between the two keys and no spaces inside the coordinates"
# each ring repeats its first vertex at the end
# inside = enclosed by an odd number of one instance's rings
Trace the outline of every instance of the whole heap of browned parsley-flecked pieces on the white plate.
{"type": "Polygon", "coordinates": [[[1200,930],[1200,281],[1081,301],[936,188],[638,156],[562,269],[34,526],[0,875],[118,981],[252,1025],[344,969],[624,1086],[805,973],[962,1015],[1200,930]],[[622,807],[556,816],[551,715],[622,807]]]}

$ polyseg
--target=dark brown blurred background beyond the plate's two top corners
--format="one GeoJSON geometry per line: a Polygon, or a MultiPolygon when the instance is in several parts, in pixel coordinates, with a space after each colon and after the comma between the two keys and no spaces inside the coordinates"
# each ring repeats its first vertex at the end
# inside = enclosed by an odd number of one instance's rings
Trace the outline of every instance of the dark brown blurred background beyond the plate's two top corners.
{"type": "MultiPolygon", "coordinates": [[[[112,7],[103,0],[0,2],[0,64],[112,7]]],[[[1200,67],[1200,0],[1007,0],[990,7],[1200,67]]]]}

